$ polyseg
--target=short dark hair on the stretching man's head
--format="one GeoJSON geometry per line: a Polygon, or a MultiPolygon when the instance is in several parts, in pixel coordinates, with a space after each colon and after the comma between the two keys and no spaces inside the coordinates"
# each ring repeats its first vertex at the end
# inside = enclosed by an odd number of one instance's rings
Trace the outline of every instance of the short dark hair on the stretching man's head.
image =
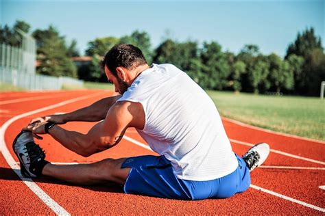
{"type": "Polygon", "coordinates": [[[117,67],[122,66],[132,70],[143,64],[147,64],[147,61],[138,47],[132,44],[117,44],[106,53],[101,61],[101,68],[104,70],[105,66],[107,66],[112,75],[117,77],[117,67]]]}

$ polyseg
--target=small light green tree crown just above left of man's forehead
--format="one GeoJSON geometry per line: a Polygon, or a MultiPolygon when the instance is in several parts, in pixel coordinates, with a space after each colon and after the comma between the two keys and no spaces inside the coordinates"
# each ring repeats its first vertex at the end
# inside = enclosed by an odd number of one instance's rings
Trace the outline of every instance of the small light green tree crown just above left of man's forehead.
{"type": "Polygon", "coordinates": [[[115,44],[119,44],[120,39],[115,37],[96,38],[88,42],[86,55],[93,56],[95,54],[104,56],[115,44]]]}

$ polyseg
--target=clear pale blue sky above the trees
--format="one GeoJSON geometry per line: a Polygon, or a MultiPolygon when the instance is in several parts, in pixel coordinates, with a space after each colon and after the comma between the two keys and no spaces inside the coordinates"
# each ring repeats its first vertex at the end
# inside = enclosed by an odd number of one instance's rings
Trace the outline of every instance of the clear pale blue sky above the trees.
{"type": "Polygon", "coordinates": [[[285,56],[298,32],[313,27],[324,46],[325,0],[287,1],[14,1],[0,0],[0,24],[16,20],[32,31],[53,25],[81,54],[95,38],[146,31],[156,48],[165,38],[216,41],[239,53],[257,44],[261,53],[285,56]]]}

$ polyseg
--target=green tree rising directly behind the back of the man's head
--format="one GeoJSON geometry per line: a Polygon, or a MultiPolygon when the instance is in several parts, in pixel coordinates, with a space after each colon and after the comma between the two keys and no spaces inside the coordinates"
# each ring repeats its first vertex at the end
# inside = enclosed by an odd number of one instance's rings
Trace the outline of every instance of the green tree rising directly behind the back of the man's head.
{"type": "Polygon", "coordinates": [[[134,46],[139,47],[147,59],[148,64],[152,62],[152,49],[150,36],[145,31],[133,31],[130,36],[123,36],[120,40],[121,44],[132,44],[134,46]]]}

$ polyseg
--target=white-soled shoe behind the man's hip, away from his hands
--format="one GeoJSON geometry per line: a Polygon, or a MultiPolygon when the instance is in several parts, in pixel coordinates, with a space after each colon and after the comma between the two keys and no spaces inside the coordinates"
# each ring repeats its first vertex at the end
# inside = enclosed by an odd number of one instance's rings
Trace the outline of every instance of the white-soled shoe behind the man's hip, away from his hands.
{"type": "Polygon", "coordinates": [[[246,152],[242,159],[247,164],[250,172],[256,167],[262,165],[269,155],[269,145],[265,143],[256,144],[248,152],[246,152]]]}

